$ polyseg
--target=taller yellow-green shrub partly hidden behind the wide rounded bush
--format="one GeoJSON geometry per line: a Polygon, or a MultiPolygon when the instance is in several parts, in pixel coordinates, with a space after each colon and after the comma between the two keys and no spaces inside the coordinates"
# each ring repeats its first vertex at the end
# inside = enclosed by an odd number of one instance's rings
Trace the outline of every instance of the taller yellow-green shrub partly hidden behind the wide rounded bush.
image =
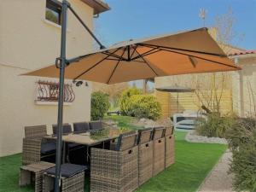
{"type": "Polygon", "coordinates": [[[137,88],[129,88],[122,92],[119,98],[119,108],[123,115],[131,116],[131,96],[140,95],[141,91],[137,88]]]}

